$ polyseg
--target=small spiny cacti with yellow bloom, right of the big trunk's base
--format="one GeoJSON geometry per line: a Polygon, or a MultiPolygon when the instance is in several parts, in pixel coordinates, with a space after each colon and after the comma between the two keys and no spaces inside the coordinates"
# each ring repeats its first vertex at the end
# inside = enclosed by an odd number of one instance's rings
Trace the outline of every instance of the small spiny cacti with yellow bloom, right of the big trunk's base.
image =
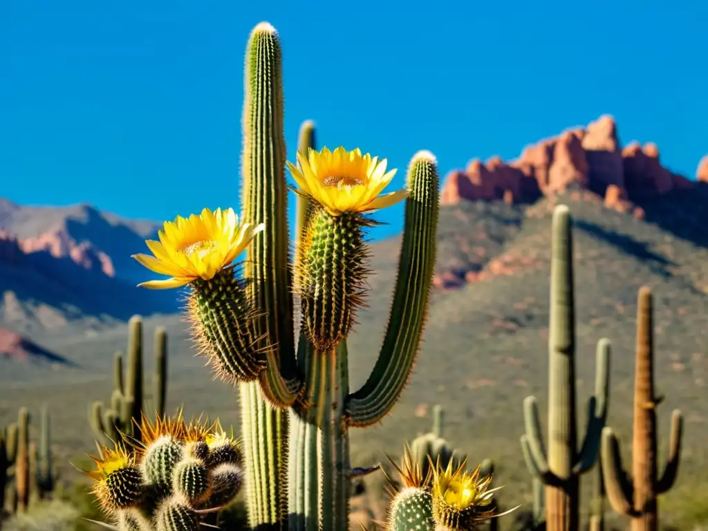
{"type": "Polygon", "coordinates": [[[481,472],[481,466],[469,471],[467,459],[459,466],[450,460],[443,466],[438,458],[428,457],[430,469],[423,475],[420,463],[415,461],[409,447],[399,466],[399,484],[389,480],[392,503],[387,531],[472,531],[481,522],[498,518],[515,510],[496,513],[491,474],[481,472]]]}

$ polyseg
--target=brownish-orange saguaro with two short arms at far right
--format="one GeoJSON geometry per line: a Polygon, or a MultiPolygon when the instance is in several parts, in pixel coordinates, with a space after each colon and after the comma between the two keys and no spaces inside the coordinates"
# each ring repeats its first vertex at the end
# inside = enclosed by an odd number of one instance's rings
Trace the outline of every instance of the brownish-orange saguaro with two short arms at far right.
{"type": "Polygon", "coordinates": [[[633,531],[656,531],[656,498],[673,486],[678,474],[683,417],[678,410],[672,413],[668,461],[659,476],[656,462],[656,406],[661,398],[654,392],[652,295],[649,287],[641,287],[638,299],[632,478],[628,479],[622,468],[619,444],[610,427],[603,430],[602,460],[607,497],[612,508],[632,518],[633,531]]]}

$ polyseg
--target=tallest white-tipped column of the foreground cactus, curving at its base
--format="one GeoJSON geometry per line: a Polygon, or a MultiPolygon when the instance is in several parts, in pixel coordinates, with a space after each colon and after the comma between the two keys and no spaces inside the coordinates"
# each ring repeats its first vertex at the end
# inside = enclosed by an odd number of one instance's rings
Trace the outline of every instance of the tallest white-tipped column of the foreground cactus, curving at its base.
{"type": "Polygon", "coordinates": [[[259,377],[264,396],[290,406],[302,380],[295,360],[292,272],[287,227],[282,50],[275,28],[261,23],[251,32],[244,68],[244,222],[265,224],[247,248],[244,277],[261,313],[258,335],[268,355],[259,377]]]}

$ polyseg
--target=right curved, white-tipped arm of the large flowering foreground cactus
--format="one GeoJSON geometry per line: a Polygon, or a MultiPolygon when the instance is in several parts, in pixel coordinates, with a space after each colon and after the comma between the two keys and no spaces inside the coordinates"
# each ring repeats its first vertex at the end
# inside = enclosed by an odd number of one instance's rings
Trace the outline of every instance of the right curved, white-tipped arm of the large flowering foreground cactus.
{"type": "Polygon", "coordinates": [[[428,310],[438,227],[438,165],[430,152],[413,156],[407,176],[399,272],[384,342],[367,382],[348,397],[350,426],[370,426],[394,406],[409,379],[428,310]]]}

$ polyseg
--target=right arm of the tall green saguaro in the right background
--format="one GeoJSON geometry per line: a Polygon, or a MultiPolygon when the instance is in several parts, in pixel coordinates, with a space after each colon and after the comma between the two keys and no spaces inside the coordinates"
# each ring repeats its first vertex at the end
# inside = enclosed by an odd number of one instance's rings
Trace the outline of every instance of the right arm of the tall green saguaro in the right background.
{"type": "Polygon", "coordinates": [[[585,474],[593,467],[600,452],[603,428],[607,421],[607,404],[610,389],[610,355],[612,347],[608,339],[598,341],[595,353],[595,395],[588,400],[588,426],[583,439],[583,446],[578,454],[578,461],[573,470],[585,474]]]}

